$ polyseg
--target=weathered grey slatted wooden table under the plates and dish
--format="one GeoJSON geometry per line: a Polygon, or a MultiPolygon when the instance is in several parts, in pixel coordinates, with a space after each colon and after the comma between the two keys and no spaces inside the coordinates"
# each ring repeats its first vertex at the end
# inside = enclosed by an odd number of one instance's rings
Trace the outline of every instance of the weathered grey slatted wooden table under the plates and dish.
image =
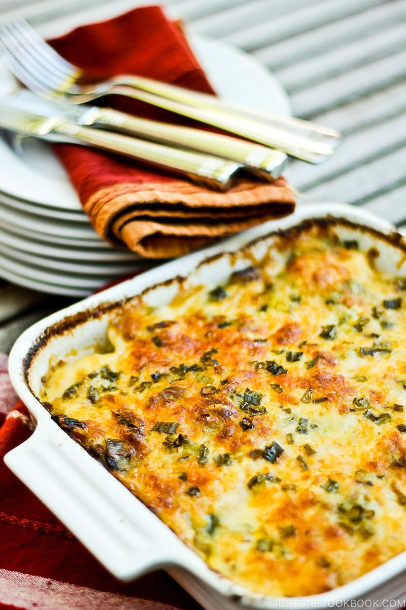
{"type": "MultiPolygon", "coordinates": [[[[0,0],[44,36],[145,4],[139,0],[0,0]]],[[[344,134],[324,165],[291,162],[303,201],[364,206],[406,228],[406,0],[163,0],[189,30],[252,54],[284,85],[293,113],[344,134]]],[[[0,194],[1,200],[1,194],[0,194]]],[[[0,351],[71,303],[0,279],[0,351]]]]}

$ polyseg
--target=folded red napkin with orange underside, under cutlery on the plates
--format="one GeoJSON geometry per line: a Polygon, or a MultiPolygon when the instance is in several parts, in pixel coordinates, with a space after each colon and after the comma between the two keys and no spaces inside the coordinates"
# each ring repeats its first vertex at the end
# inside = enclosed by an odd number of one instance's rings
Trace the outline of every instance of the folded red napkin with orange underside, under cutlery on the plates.
{"type": "MultiPolygon", "coordinates": [[[[99,79],[138,74],[214,93],[180,24],[167,20],[156,6],[78,27],[50,42],[99,79]]],[[[192,124],[128,98],[108,96],[101,103],[142,117],[192,124]]],[[[96,231],[141,256],[180,256],[215,238],[286,215],[295,206],[284,178],[271,183],[239,178],[228,192],[219,193],[94,149],[66,144],[55,145],[55,150],[96,231]]]]}

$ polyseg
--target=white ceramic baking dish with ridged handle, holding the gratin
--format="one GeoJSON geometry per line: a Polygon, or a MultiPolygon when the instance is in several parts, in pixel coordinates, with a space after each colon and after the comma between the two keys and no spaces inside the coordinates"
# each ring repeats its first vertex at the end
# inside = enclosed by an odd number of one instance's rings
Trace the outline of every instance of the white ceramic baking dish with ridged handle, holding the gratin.
{"type": "MultiPolygon", "coordinates": [[[[295,598],[264,597],[237,586],[209,569],[158,517],[68,437],[35,397],[41,376],[50,361],[63,357],[72,348],[83,354],[86,348],[103,342],[108,308],[114,302],[161,282],[166,284],[150,290],[148,298],[159,303],[170,300],[178,284],[167,280],[178,275],[190,274],[190,281],[196,280],[200,284],[219,283],[229,274],[231,257],[227,252],[307,218],[328,215],[345,218],[384,235],[391,235],[395,231],[387,221],[356,207],[343,204],[302,206],[290,217],[270,221],[235,235],[219,245],[147,271],[142,276],[52,314],[29,328],[15,343],[10,354],[10,375],[19,397],[32,415],[36,429],[25,443],[7,454],[5,462],[117,578],[131,580],[144,572],[165,567],[208,610],[232,610],[241,605],[264,610],[283,606],[400,608],[401,602],[406,599],[406,552],[326,594],[295,598]],[[225,254],[212,258],[220,253],[225,254]],[[208,257],[208,261],[198,266],[208,257]],[[94,308],[98,308],[96,312],[92,312],[94,308]],[[79,320],[77,314],[80,314],[79,320]],[[50,327],[52,332],[49,331],[50,327]],[[399,605],[394,606],[393,600],[399,600],[399,605]]],[[[343,229],[346,230],[351,231],[343,229]]],[[[360,234],[362,248],[379,242],[377,264],[397,274],[405,267],[403,272],[406,274],[404,251],[394,256],[393,246],[387,240],[380,240],[378,235],[368,232],[360,234]]],[[[406,249],[406,241],[400,237],[397,239],[406,249]]],[[[257,243],[255,248],[258,253],[264,245],[264,242],[257,243]]],[[[239,262],[243,264],[243,260],[239,262]]]]}

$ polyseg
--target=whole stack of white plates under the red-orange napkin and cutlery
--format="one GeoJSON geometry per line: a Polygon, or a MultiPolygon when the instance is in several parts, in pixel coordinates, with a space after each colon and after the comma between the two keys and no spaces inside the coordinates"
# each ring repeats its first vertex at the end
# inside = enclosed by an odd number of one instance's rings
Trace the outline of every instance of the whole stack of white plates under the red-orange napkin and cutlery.
{"type": "MultiPolygon", "coordinates": [[[[255,59],[200,37],[192,46],[220,95],[289,113],[279,82],[255,59]]],[[[0,84],[0,97],[16,87],[1,62],[0,84]]],[[[87,296],[153,264],[100,239],[50,146],[0,131],[0,277],[42,292],[87,296]]]]}

